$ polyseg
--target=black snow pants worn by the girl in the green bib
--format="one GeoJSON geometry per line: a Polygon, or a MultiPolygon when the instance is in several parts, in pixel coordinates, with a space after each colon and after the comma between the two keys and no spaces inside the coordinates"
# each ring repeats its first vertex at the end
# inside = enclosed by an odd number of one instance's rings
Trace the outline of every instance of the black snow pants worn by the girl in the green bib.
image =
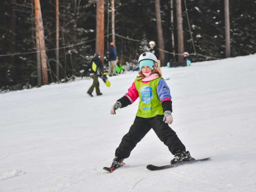
{"type": "Polygon", "coordinates": [[[157,137],[168,146],[172,154],[186,150],[185,146],[176,135],[176,132],[163,121],[163,115],[157,115],[152,118],[136,116],[129,132],[124,135],[116,149],[115,156],[120,158],[129,157],[132,149],[135,148],[137,143],[142,140],[151,128],[157,134],[157,137]]]}

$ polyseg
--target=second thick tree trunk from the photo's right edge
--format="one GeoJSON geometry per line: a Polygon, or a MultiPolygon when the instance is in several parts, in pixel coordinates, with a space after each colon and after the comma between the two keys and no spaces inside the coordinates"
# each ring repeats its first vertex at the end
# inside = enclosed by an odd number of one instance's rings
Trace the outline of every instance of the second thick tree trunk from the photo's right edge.
{"type": "Polygon", "coordinates": [[[178,54],[179,62],[182,61],[182,54],[184,52],[184,40],[183,40],[183,27],[182,27],[182,8],[181,1],[176,0],[176,18],[177,18],[177,38],[178,38],[178,54]]]}

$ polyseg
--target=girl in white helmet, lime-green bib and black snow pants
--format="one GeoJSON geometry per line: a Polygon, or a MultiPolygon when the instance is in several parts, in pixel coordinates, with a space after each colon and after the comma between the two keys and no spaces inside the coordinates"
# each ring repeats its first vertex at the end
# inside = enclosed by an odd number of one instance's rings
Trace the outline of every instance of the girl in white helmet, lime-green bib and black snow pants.
{"type": "Polygon", "coordinates": [[[130,152],[151,128],[174,155],[171,163],[194,160],[190,156],[190,152],[186,152],[186,148],[177,137],[176,132],[168,125],[173,121],[171,93],[155,67],[157,66],[157,57],[151,52],[144,52],[140,55],[138,63],[140,71],[137,79],[128,92],[118,99],[111,108],[111,115],[115,115],[118,108],[127,107],[140,98],[135,120],[129,132],[124,135],[116,148],[115,158],[110,169],[113,170],[121,166],[124,158],[130,156],[130,152]]]}

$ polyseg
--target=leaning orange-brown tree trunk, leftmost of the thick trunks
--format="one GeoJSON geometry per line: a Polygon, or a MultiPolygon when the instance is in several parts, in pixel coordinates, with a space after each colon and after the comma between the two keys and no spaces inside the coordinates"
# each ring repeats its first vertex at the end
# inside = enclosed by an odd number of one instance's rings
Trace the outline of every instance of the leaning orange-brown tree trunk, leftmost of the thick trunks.
{"type": "Polygon", "coordinates": [[[43,85],[46,85],[48,84],[48,74],[47,74],[47,61],[46,61],[46,51],[45,51],[45,44],[44,44],[44,29],[43,29],[43,19],[41,16],[40,0],[35,0],[35,22],[37,24],[36,30],[38,30],[39,41],[40,41],[43,85]]]}

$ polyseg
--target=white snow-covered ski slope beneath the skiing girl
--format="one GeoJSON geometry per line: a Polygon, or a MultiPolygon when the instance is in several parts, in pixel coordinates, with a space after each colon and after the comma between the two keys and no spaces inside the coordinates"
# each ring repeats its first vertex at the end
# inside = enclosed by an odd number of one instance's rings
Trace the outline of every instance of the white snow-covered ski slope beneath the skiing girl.
{"type": "Polygon", "coordinates": [[[174,129],[195,158],[163,171],[173,157],[151,130],[126,166],[108,174],[138,101],[110,115],[136,72],[0,94],[0,191],[256,191],[256,55],[162,68],[171,88],[174,129]],[[93,93],[95,94],[95,93],[93,93]]]}

